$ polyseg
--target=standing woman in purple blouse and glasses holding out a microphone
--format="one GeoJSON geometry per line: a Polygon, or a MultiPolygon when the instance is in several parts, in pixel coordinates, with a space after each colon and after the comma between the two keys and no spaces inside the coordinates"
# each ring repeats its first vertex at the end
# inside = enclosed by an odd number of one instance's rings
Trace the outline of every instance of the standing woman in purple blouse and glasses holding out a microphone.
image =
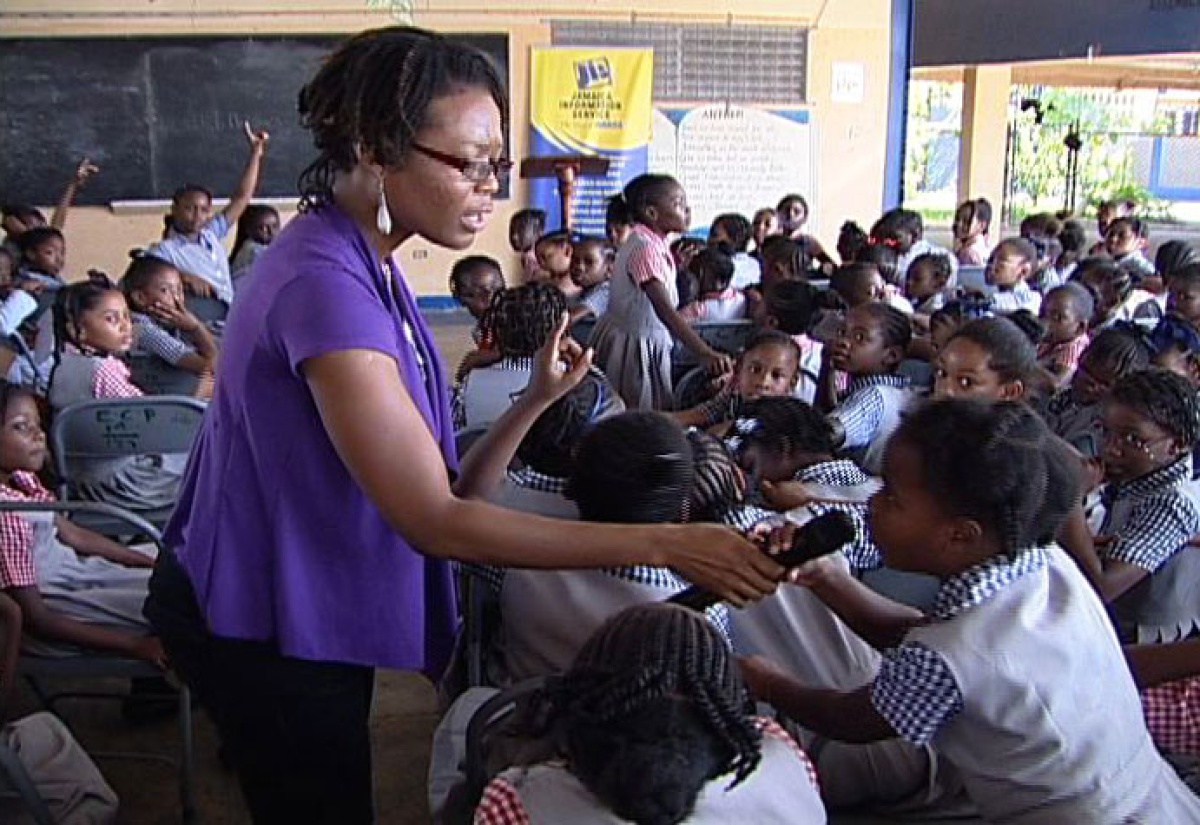
{"type": "MultiPolygon", "coordinates": [[[[349,40],[300,95],[319,152],[302,213],[234,302],[146,603],[257,823],[372,821],[374,668],[444,667],[449,559],[662,565],[734,603],[782,574],[718,526],[580,525],[455,495],[442,365],[392,253],[482,231],[511,165],[506,110],[481,53],[400,28],[349,40]]],[[[490,438],[518,440],[589,362],[553,360],[490,438]]]]}

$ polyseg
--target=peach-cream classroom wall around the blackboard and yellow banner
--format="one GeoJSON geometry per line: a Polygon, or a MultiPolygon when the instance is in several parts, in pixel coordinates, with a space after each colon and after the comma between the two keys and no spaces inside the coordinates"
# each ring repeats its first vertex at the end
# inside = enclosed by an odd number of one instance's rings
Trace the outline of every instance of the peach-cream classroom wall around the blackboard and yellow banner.
{"type": "MultiPolygon", "coordinates": [[[[841,222],[869,225],[880,212],[886,157],[889,0],[661,0],[653,14],[629,0],[413,0],[416,25],[443,31],[506,31],[512,96],[511,155],[524,155],[529,122],[529,49],[548,46],[552,18],[612,18],[764,24],[778,22],[812,28],[809,41],[809,98],[817,133],[817,186],[805,193],[812,205],[814,231],[832,246],[841,222]],[[863,64],[860,102],[834,103],[833,64],[863,64]]],[[[0,31],[5,37],[115,35],[330,34],[386,25],[385,11],[366,0],[5,0],[0,31]]],[[[294,90],[281,90],[294,95],[294,90]]],[[[23,136],[5,134],[4,140],[23,136]]],[[[268,156],[268,163],[270,157],[268,156]]],[[[64,175],[70,169],[64,169],[64,175]]],[[[103,173],[101,173],[103,174],[103,173]]],[[[208,181],[218,193],[234,181],[208,181]]],[[[17,198],[19,193],[2,193],[17,198]]],[[[514,197],[497,204],[492,223],[473,252],[490,254],[516,271],[508,245],[508,222],[524,204],[524,186],[515,181],[514,197]]],[[[80,207],[71,212],[66,231],[68,270],[88,267],[113,275],[124,270],[126,253],[158,237],[164,210],[80,207]]],[[[281,210],[284,219],[292,212],[281,210]]],[[[229,239],[232,241],[232,237],[229,239]]],[[[446,294],[445,276],[455,257],[420,240],[406,243],[400,259],[420,295],[446,294]]]]}

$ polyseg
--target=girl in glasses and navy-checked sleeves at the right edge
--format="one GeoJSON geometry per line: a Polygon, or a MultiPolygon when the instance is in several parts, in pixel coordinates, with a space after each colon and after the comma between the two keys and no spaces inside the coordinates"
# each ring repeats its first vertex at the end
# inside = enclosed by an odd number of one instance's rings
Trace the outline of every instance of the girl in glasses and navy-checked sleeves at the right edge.
{"type": "Polygon", "coordinates": [[[1100,596],[1126,642],[1176,642],[1200,630],[1200,535],[1192,448],[1200,399],[1175,373],[1126,375],[1104,402],[1104,520],[1096,553],[1100,596]]]}

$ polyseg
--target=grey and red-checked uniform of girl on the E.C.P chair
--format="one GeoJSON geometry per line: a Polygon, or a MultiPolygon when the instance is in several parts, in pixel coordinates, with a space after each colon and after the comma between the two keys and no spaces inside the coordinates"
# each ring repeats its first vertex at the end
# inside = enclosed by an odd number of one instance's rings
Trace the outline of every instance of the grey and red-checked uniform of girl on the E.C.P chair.
{"type": "MultiPolygon", "coordinates": [[[[64,353],[54,369],[49,401],[55,410],[95,398],[139,398],[130,368],[113,356],[64,353]]],[[[175,502],[186,454],[82,459],[71,470],[80,498],[132,511],[152,511],[175,502]]]]}

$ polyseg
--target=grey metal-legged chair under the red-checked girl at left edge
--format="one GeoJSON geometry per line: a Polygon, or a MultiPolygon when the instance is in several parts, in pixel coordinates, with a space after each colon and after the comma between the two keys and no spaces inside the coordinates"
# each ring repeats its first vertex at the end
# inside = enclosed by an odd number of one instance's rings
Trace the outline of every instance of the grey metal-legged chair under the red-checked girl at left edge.
{"type": "MultiPolygon", "coordinates": [[[[126,534],[146,536],[160,553],[163,552],[162,535],[158,529],[145,519],[114,507],[109,504],[96,501],[0,501],[0,513],[5,512],[53,512],[65,516],[78,517],[91,514],[108,520],[121,522],[126,534]]],[[[19,644],[19,642],[18,642],[19,644]]],[[[67,725],[67,719],[58,712],[59,703],[67,699],[107,699],[124,700],[126,694],[98,692],[98,691],[52,691],[47,682],[56,679],[80,680],[80,679],[142,679],[161,676],[162,673],[149,662],[121,658],[106,654],[79,654],[78,656],[47,657],[22,654],[17,672],[25,679],[34,694],[46,710],[50,711],[67,725]]],[[[196,815],[194,802],[194,760],[193,760],[193,731],[192,731],[192,694],[187,685],[181,684],[179,688],[179,735],[180,749],[178,757],[167,757],[161,753],[127,753],[127,752],[92,752],[97,759],[139,759],[156,761],[169,765],[179,771],[179,799],[182,806],[184,821],[192,821],[196,815]]]]}

